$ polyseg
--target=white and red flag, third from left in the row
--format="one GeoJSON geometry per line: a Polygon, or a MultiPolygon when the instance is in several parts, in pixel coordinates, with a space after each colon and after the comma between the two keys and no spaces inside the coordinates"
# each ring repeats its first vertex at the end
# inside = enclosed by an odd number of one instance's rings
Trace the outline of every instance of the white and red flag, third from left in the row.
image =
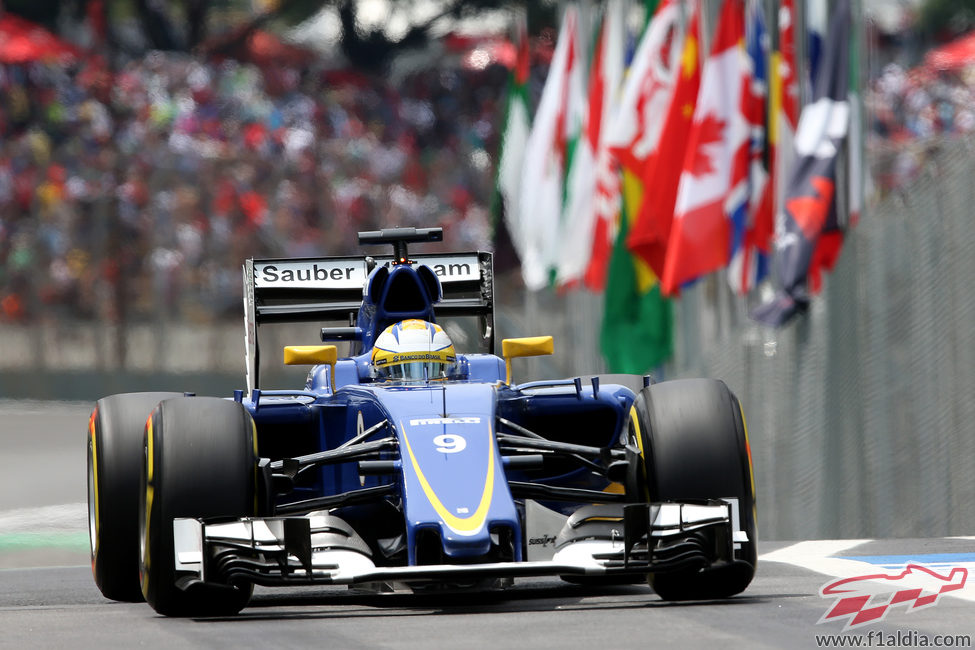
{"type": "MultiPolygon", "coordinates": [[[[582,133],[572,153],[566,179],[556,274],[556,280],[562,286],[579,284],[589,277],[590,264],[605,267],[608,261],[608,244],[598,246],[597,243],[606,239],[609,223],[616,217],[619,207],[619,176],[607,147],[606,134],[618,106],[617,93],[623,78],[623,45],[623,2],[610,0],[590,67],[582,133]],[[598,259],[600,256],[601,260],[598,259]]],[[[593,270],[594,274],[597,272],[593,270]]],[[[587,284],[591,288],[602,288],[599,282],[587,284]]]]}

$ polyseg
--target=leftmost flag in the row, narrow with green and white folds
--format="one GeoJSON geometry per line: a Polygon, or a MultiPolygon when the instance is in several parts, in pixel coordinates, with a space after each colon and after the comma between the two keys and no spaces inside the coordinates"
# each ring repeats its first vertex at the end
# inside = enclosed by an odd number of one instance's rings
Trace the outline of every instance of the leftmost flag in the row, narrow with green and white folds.
{"type": "MultiPolygon", "coordinates": [[[[528,96],[531,58],[527,19],[523,10],[516,14],[514,31],[517,54],[514,68],[508,77],[508,100],[504,126],[501,130],[493,205],[496,269],[500,261],[497,259],[497,252],[500,249],[510,245],[515,248],[519,259],[524,255],[524,252],[518,248],[522,244],[522,240],[517,236],[521,231],[518,222],[518,199],[524,169],[525,143],[531,130],[531,100],[528,96]]],[[[507,256],[511,257],[510,252],[507,256]]],[[[514,260],[508,262],[517,264],[514,260]]]]}

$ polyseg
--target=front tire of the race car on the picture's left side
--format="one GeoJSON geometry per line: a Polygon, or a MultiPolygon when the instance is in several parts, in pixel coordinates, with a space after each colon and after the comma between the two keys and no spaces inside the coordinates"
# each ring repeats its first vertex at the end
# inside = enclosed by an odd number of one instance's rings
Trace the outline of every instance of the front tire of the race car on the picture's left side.
{"type": "Polygon", "coordinates": [[[139,508],[142,594],[164,616],[227,616],[252,584],[183,581],[174,566],[173,520],[257,512],[254,421],[237,402],[179,397],[159,404],[145,432],[139,508]]]}

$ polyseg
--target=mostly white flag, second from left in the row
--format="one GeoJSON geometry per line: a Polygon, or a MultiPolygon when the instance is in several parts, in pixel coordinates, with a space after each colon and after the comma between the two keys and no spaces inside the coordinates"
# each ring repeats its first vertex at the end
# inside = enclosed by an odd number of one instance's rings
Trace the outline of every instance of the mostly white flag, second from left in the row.
{"type": "Polygon", "coordinates": [[[585,101],[577,37],[578,11],[570,4],[525,144],[517,233],[511,233],[521,255],[522,278],[530,290],[548,285],[558,255],[569,138],[580,128],[585,101]]]}

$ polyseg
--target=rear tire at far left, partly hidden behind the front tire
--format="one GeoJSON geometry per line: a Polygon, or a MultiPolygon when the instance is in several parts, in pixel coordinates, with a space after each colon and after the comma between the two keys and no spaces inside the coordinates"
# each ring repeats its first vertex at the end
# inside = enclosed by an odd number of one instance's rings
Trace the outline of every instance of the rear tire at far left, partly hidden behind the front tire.
{"type": "Polygon", "coordinates": [[[91,572],[106,598],[142,600],[139,586],[139,467],[152,409],[182,393],[123,393],[98,400],[88,420],[91,572]]]}

